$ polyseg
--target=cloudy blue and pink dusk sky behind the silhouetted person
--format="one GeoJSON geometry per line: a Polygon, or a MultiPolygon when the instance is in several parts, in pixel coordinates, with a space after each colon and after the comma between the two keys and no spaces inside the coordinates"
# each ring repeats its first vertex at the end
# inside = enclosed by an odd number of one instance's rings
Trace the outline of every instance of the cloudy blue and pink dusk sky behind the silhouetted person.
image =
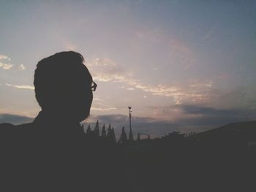
{"type": "Polygon", "coordinates": [[[94,126],[152,137],[256,120],[256,1],[0,0],[0,122],[40,111],[37,62],[74,50],[97,82],[94,126]]]}

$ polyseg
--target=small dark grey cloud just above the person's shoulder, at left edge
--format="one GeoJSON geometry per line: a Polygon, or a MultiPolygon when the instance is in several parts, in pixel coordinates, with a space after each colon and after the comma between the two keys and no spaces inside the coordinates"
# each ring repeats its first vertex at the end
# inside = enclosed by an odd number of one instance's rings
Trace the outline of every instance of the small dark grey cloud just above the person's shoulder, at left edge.
{"type": "Polygon", "coordinates": [[[30,123],[34,118],[29,118],[22,115],[12,115],[12,114],[0,114],[0,123],[12,123],[15,125],[30,123]]]}

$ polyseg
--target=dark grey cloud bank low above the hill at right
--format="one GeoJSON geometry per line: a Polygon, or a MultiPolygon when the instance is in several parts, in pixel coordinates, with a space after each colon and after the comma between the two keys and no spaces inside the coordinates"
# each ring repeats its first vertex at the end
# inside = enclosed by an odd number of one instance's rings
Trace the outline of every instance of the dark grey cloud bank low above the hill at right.
{"type": "Polygon", "coordinates": [[[206,131],[227,123],[256,120],[256,109],[217,109],[199,105],[150,107],[158,120],[171,121],[180,131],[206,131]]]}

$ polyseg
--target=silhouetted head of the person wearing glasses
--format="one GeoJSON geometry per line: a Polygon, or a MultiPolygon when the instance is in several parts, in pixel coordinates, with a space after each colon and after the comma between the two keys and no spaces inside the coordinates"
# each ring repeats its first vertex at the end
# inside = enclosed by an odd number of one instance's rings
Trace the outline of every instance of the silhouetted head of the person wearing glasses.
{"type": "MultiPolygon", "coordinates": [[[[34,72],[36,99],[56,119],[80,122],[89,116],[94,84],[83,56],[73,51],[43,58],[34,72]]],[[[96,84],[95,84],[96,85],[96,84]]]]}

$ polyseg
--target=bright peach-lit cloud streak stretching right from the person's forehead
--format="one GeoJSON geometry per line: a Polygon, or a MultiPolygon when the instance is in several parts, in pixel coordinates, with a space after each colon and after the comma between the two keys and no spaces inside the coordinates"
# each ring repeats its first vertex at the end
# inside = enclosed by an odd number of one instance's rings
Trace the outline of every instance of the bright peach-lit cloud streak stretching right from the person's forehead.
{"type": "MultiPolygon", "coordinates": [[[[148,85],[133,77],[130,72],[121,68],[110,58],[92,59],[88,62],[87,66],[94,80],[99,82],[124,82],[129,85],[127,90],[133,91],[135,88],[138,88],[154,96],[172,97],[176,104],[206,101],[213,87],[211,80],[204,82],[190,80],[189,82],[176,83],[176,85],[148,85]]],[[[121,88],[124,88],[124,85],[121,88]]]]}

